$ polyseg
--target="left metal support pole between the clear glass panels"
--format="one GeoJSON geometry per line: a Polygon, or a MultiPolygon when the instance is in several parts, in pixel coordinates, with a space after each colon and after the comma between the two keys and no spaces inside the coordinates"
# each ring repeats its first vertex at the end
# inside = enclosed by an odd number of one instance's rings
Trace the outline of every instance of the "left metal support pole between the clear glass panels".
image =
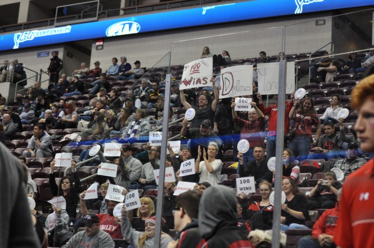
{"type": "Polygon", "coordinates": [[[162,228],[162,217],[163,217],[163,184],[165,181],[165,162],[166,162],[166,147],[167,147],[167,130],[169,130],[169,122],[166,121],[169,116],[170,109],[170,80],[171,74],[166,75],[165,83],[165,105],[163,106],[163,140],[161,143],[160,152],[160,179],[157,193],[157,207],[156,207],[156,232],[155,232],[155,247],[160,247],[161,242],[161,228],[162,228]],[[166,118],[165,118],[166,117],[166,118]]]}

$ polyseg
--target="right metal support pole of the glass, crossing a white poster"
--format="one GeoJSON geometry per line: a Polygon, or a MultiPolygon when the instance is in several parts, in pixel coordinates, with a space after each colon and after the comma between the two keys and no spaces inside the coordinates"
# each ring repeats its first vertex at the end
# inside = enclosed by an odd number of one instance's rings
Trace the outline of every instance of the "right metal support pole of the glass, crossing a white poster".
{"type": "Polygon", "coordinates": [[[272,248],[279,247],[280,240],[280,204],[281,180],[282,180],[282,154],[284,140],[284,115],[286,98],[286,61],[279,61],[279,87],[278,87],[278,114],[276,120],[276,174],[274,182],[274,212],[273,212],[273,242],[272,248]]]}

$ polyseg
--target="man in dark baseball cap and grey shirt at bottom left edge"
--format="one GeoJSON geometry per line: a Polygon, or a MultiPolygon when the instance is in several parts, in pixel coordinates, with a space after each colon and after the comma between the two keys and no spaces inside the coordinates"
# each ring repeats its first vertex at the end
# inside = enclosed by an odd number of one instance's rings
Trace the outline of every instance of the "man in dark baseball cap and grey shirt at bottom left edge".
{"type": "Polygon", "coordinates": [[[72,236],[62,248],[114,248],[114,241],[111,236],[100,230],[97,215],[88,214],[82,222],[85,230],[72,236]]]}

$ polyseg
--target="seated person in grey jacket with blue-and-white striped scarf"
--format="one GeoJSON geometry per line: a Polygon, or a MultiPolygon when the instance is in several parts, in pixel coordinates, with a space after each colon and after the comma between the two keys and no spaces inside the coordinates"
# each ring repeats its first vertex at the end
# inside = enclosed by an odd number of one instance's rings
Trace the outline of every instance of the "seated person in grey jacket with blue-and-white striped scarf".
{"type": "Polygon", "coordinates": [[[139,137],[149,136],[149,131],[151,131],[151,125],[146,119],[146,111],[143,109],[136,109],[135,121],[124,130],[120,139],[121,143],[127,143],[132,138],[137,140],[139,137]]]}

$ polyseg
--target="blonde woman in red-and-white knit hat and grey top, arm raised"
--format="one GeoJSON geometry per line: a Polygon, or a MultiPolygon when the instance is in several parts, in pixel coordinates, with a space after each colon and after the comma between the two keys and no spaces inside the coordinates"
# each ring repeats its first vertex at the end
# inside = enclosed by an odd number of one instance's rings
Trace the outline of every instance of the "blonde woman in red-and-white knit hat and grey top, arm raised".
{"type": "MultiPolygon", "coordinates": [[[[121,219],[122,235],[125,240],[133,247],[147,248],[155,247],[155,230],[156,230],[156,217],[146,219],[146,232],[138,232],[132,229],[126,211],[126,205],[123,205],[121,219]]],[[[170,241],[173,239],[166,233],[161,233],[160,248],[167,248],[170,241]]]]}

